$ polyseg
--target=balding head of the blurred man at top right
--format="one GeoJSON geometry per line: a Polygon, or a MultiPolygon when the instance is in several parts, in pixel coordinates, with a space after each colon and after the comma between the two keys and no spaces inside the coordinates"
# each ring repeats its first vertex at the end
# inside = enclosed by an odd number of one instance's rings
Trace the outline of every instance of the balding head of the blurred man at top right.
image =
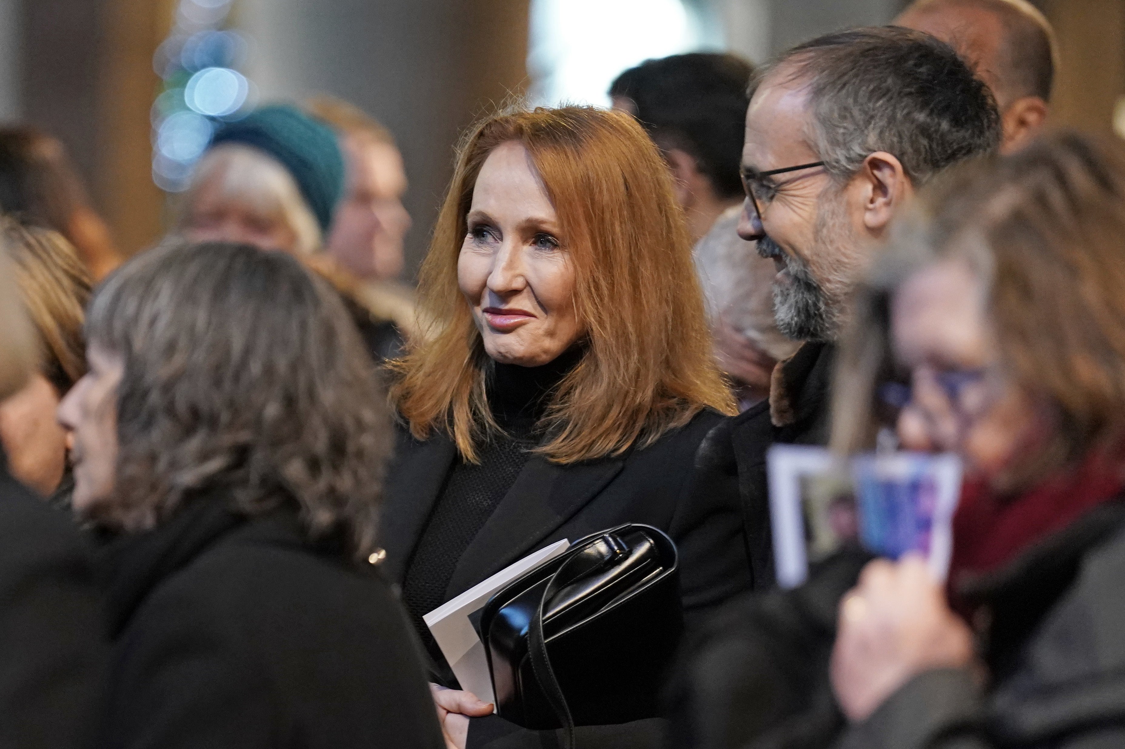
{"type": "Polygon", "coordinates": [[[973,65],[1000,109],[1002,151],[1043,125],[1059,53],[1051,24],[1027,0],[916,0],[894,22],[933,34],[973,65]]]}

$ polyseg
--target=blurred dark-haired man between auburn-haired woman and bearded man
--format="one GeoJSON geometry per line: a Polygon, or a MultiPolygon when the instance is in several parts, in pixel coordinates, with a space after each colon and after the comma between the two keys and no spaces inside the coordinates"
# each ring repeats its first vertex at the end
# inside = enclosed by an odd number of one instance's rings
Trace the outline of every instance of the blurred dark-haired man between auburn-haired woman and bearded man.
{"type": "Polygon", "coordinates": [[[777,332],[770,285],[773,263],[738,237],[742,184],[738,159],[754,69],[731,54],[648,60],[610,87],[660,147],[695,242],[695,268],[714,333],[716,357],[741,408],[770,394],[774,364],[796,343],[777,332]]]}

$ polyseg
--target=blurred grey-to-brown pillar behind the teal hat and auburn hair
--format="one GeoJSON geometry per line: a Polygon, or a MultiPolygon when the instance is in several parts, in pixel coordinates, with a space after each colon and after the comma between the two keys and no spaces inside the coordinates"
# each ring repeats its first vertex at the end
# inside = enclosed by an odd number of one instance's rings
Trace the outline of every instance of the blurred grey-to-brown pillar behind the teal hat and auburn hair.
{"type": "Polygon", "coordinates": [[[526,89],[528,0],[240,0],[244,72],[261,100],[331,93],[394,133],[414,218],[406,274],[425,253],[458,134],[526,89]]]}

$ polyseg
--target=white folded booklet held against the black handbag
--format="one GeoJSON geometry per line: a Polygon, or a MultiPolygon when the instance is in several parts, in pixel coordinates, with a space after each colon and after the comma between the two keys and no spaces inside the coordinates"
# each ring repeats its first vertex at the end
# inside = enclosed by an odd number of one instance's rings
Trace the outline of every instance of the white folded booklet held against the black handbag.
{"type": "Polygon", "coordinates": [[[558,557],[569,545],[570,542],[564,539],[530,553],[422,617],[462,689],[471,692],[484,702],[496,702],[485,646],[477,637],[469,617],[483,608],[494,593],[531,568],[558,557]]]}

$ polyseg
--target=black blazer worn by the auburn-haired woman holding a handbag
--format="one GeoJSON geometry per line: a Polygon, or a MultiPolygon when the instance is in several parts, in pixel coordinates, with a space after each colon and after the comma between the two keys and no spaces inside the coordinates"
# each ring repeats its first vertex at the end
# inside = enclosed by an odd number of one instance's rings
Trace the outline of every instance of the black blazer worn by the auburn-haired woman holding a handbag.
{"type": "MultiPolygon", "coordinates": [[[[723,421],[720,414],[701,412],[683,428],[619,458],[558,466],[532,457],[461,556],[446,598],[560,539],[574,541],[621,523],[646,523],[676,542],[684,612],[692,629],[706,612],[750,586],[737,490],[696,490],[696,473],[711,450],[709,433],[723,421]]],[[[434,435],[420,442],[405,428],[399,431],[381,525],[386,571],[399,585],[456,459],[449,437],[434,435]]],[[[474,724],[469,746],[480,746],[475,737],[478,721],[474,724]]],[[[526,741],[538,746],[533,737],[526,741]]],[[[622,745],[586,740],[584,746],[622,745]]]]}

